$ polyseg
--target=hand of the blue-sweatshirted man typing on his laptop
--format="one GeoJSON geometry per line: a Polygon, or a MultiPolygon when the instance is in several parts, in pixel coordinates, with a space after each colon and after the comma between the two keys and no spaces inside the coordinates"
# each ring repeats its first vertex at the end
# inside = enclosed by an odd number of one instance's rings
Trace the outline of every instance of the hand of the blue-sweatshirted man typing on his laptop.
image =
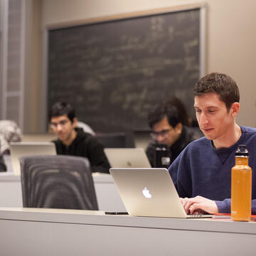
{"type": "Polygon", "coordinates": [[[196,196],[194,198],[181,198],[183,208],[186,214],[196,213],[218,213],[218,207],[215,201],[203,196],[196,196]]]}

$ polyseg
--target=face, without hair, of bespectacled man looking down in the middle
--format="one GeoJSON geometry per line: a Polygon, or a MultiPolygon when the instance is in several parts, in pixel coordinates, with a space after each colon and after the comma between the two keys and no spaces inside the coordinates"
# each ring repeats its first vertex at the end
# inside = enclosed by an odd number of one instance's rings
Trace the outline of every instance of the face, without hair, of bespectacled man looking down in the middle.
{"type": "Polygon", "coordinates": [[[181,134],[182,125],[177,124],[176,127],[172,127],[167,117],[164,117],[159,122],[154,124],[151,137],[159,144],[166,144],[172,146],[181,134]]]}

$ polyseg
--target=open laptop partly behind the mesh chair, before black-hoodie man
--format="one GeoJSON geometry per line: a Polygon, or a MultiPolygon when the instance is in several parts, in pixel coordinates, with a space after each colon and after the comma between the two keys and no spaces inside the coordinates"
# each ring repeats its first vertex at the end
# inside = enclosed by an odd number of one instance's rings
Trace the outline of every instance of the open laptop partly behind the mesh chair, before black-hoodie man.
{"type": "Polygon", "coordinates": [[[14,175],[21,175],[19,157],[56,154],[53,142],[11,142],[10,151],[14,175]]]}

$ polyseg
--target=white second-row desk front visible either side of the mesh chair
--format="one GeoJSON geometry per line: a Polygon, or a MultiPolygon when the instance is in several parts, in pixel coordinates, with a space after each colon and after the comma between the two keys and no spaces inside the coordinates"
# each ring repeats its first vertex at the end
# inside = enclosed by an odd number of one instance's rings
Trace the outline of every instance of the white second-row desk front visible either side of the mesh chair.
{"type": "MultiPolygon", "coordinates": [[[[110,174],[92,174],[100,210],[125,211],[110,174]]],[[[0,174],[0,207],[22,207],[21,177],[0,174]]]]}

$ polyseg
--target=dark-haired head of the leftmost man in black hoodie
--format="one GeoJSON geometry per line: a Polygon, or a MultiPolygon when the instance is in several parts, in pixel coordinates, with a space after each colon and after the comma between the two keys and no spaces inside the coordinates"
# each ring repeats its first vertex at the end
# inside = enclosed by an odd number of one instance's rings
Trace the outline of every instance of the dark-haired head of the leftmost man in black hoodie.
{"type": "Polygon", "coordinates": [[[48,113],[50,128],[64,144],[69,144],[75,138],[75,110],[65,102],[56,102],[48,113]]]}

